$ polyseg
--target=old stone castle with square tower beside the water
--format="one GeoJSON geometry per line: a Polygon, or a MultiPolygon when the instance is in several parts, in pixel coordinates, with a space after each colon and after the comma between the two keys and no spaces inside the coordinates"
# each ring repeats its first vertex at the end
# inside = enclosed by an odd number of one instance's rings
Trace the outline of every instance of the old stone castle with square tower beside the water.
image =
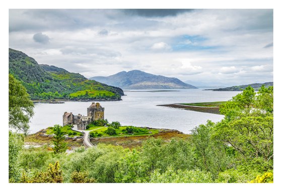
{"type": "Polygon", "coordinates": [[[87,108],[87,116],[73,115],[73,113],[64,112],[62,116],[63,126],[74,125],[78,126],[78,130],[86,130],[86,126],[92,121],[104,120],[104,110],[99,103],[92,103],[89,108],[87,108]]]}

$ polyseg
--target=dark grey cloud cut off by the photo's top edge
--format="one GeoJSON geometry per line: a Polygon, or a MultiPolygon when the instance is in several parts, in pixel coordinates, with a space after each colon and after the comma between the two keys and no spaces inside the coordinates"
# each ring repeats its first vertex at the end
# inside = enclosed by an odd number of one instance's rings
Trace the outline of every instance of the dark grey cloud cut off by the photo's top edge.
{"type": "Polygon", "coordinates": [[[123,10],[127,15],[135,15],[141,17],[166,17],[176,16],[181,13],[191,12],[191,9],[128,9],[123,10]]]}

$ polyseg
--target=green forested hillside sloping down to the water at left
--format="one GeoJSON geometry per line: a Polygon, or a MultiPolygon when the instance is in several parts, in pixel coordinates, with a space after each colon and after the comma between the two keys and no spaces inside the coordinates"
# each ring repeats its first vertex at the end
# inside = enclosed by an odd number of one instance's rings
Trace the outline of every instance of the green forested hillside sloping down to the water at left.
{"type": "Polygon", "coordinates": [[[33,100],[120,100],[124,95],[119,87],[53,65],[39,65],[35,59],[14,49],[9,49],[9,73],[23,83],[33,100]]]}

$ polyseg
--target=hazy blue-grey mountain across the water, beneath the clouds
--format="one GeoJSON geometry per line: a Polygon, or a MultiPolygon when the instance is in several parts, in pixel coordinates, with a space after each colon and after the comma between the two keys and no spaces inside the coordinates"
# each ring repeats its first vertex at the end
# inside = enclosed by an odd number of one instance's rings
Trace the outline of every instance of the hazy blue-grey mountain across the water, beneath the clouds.
{"type": "Polygon", "coordinates": [[[123,89],[170,89],[170,88],[197,88],[178,78],[154,75],[140,70],[121,71],[110,76],[95,76],[93,79],[123,89]]]}

